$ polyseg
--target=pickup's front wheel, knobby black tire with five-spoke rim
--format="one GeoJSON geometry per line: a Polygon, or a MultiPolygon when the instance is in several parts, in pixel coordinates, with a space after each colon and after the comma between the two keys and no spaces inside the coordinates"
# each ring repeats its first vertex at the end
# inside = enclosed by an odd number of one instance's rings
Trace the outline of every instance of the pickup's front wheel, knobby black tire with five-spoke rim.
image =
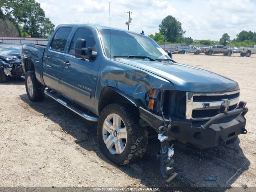
{"type": "Polygon", "coordinates": [[[97,139],[102,153],[116,164],[140,160],[148,144],[148,131],[140,126],[139,113],[129,104],[109,104],[101,114],[97,139]]]}

